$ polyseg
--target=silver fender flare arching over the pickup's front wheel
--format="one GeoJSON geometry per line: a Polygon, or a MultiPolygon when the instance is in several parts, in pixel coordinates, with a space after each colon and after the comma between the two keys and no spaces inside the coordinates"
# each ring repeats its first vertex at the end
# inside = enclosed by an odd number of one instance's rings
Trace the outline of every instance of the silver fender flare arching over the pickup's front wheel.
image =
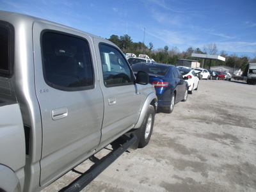
{"type": "Polygon", "coordinates": [[[155,93],[150,93],[147,97],[147,99],[145,100],[144,104],[143,104],[143,107],[141,109],[141,113],[140,113],[140,118],[138,120],[138,122],[134,125],[134,129],[138,129],[140,128],[142,122],[143,122],[143,119],[147,113],[147,109],[148,109],[148,106],[150,104],[152,104],[152,102],[154,103],[154,108],[155,108],[155,111],[157,110],[157,97],[156,97],[156,94],[155,93]]]}

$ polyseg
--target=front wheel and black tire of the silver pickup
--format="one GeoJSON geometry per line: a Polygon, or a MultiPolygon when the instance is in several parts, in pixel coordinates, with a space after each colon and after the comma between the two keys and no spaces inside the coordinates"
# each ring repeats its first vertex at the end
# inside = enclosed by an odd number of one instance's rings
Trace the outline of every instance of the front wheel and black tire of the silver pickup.
{"type": "Polygon", "coordinates": [[[139,148],[143,148],[148,145],[154,127],[155,115],[156,111],[154,107],[150,105],[140,127],[139,148]]]}

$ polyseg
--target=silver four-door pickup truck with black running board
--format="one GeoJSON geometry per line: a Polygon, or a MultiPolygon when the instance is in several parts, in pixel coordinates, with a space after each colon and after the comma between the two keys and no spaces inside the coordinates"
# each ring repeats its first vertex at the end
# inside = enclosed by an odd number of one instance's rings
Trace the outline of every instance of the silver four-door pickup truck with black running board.
{"type": "Polygon", "coordinates": [[[63,189],[79,191],[127,148],[148,144],[156,93],[115,44],[0,12],[0,50],[0,191],[40,191],[123,138],[63,189]]]}

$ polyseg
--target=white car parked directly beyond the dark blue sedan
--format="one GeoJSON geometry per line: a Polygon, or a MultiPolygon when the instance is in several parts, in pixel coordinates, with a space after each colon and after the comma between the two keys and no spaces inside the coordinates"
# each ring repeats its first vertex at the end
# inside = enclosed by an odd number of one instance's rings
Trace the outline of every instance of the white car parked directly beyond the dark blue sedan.
{"type": "Polygon", "coordinates": [[[198,89],[199,78],[197,77],[195,70],[189,67],[177,66],[178,70],[182,74],[183,77],[188,77],[188,91],[190,94],[193,94],[194,90],[198,89]]]}

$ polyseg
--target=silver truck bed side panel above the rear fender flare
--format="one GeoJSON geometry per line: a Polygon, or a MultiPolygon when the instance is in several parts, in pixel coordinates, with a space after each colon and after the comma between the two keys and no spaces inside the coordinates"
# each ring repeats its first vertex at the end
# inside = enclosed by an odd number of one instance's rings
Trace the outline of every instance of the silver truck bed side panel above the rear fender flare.
{"type": "MultiPolygon", "coordinates": [[[[0,101],[0,164],[8,166],[24,182],[25,136],[19,104],[0,101]]],[[[1,177],[6,177],[1,175],[1,177]]]]}

